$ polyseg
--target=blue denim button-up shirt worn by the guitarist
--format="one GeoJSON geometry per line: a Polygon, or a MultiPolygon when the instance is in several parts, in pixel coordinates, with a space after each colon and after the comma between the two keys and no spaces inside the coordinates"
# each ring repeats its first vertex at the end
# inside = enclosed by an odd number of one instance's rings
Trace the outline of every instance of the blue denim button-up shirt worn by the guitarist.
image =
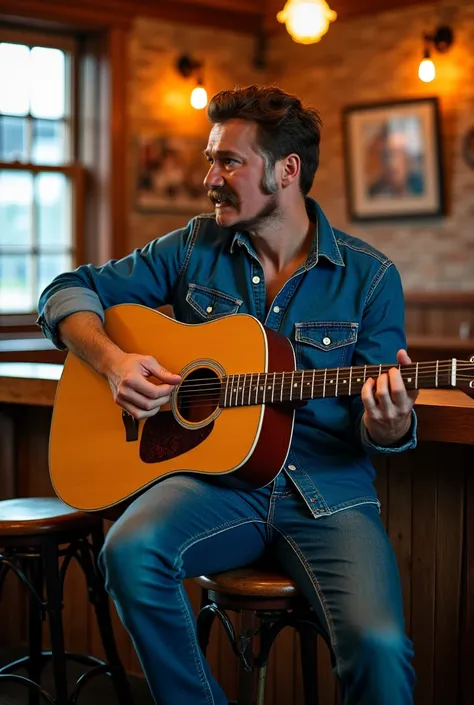
{"type": "MultiPolygon", "coordinates": [[[[312,199],[306,207],[316,224],[311,251],[268,312],[263,268],[248,235],[205,214],[121,260],[59,275],[41,295],[38,323],[63,348],[57,325],[71,313],[93,311],[103,319],[104,309],[115,304],[171,304],[184,323],[236,313],[258,318],[289,338],[298,369],[396,364],[406,341],[395,265],[333,229],[312,199]]],[[[379,447],[361,422],[363,411],[360,395],[315,399],[296,411],[284,471],[315,517],[378,504],[369,456],[416,445],[414,412],[408,436],[379,447]]]]}

